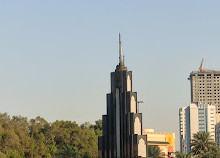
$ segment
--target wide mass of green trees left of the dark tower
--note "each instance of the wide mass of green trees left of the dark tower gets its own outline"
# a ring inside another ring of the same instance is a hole
[[[102,122],[95,125],[55,121],[48,123],[41,117],[0,114],[1,158],[77,158],[97,157],[98,136]]]

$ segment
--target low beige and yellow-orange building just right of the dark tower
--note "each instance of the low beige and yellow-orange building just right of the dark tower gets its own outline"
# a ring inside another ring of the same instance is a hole
[[[143,135],[147,135],[147,145],[160,148],[162,157],[171,158],[175,153],[175,133],[154,132],[154,129],[144,129]]]

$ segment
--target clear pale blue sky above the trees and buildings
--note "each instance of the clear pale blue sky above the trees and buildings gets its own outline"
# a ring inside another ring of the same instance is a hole
[[[121,33],[143,128],[174,132],[191,71],[220,70],[220,1],[0,1],[0,112],[94,123]]]

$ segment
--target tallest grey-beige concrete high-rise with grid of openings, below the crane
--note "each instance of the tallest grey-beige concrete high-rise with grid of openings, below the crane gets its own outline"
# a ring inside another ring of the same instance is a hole
[[[191,102],[216,106],[220,113],[220,71],[200,69],[189,76],[191,84]],[[217,122],[218,118],[217,118]]]

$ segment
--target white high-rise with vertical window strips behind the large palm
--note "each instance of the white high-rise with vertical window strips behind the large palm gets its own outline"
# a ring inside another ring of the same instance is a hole
[[[191,151],[191,140],[197,132],[209,132],[215,140],[216,108],[209,104],[191,103],[188,107],[179,109],[180,150]]]

